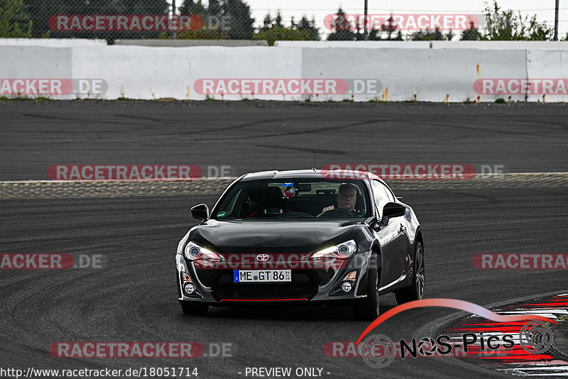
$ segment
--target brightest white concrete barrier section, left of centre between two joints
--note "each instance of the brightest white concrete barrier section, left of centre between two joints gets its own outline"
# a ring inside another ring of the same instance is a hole
[[[75,77],[104,79],[109,84],[105,99],[204,100],[206,94],[195,92],[195,81],[198,79],[302,77],[300,48],[108,46],[75,48],[73,51],[73,74]],[[217,95],[214,98],[222,97]],[[244,98],[252,97],[248,94],[223,96],[225,100]],[[255,98],[290,100],[270,95]]]

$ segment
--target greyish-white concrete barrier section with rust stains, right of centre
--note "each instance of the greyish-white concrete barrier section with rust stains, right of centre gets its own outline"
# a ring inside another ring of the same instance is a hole
[[[304,49],[302,73],[304,77],[349,75],[380,80],[381,92],[356,94],[356,101],[476,101],[477,79],[484,75],[525,78],[525,62],[524,50]],[[498,97],[503,96],[482,95],[480,100]]]

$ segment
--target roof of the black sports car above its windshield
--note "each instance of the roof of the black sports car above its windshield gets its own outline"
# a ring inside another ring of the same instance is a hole
[[[288,180],[290,178],[302,179],[327,179],[327,180],[369,180],[376,179],[381,182],[383,180],[373,172],[356,171],[356,170],[271,170],[251,172],[241,177],[241,181],[249,182],[251,180]]]

